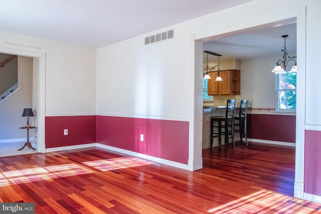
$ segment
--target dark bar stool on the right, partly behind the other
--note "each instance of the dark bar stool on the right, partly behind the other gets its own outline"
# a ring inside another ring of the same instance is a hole
[[[234,122],[234,132],[240,133],[241,146],[243,146],[242,135],[245,137],[246,145],[248,145],[247,134],[246,134],[246,117],[247,117],[246,115],[247,115],[248,102],[249,102],[248,100],[241,100],[239,114],[236,114],[234,116],[234,120],[237,121],[237,122]]]

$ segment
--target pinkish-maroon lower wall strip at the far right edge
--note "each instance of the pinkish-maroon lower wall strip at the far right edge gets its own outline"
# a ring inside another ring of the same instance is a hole
[[[304,192],[321,195],[321,131],[305,130]]]

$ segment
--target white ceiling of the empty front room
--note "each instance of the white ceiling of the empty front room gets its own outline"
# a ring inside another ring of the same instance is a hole
[[[101,48],[253,0],[0,0],[0,31]]]

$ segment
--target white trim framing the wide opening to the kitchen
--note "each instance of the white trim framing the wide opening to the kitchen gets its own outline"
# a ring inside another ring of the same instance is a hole
[[[195,52],[195,63],[194,66],[194,76],[195,76],[195,88],[194,88],[194,127],[191,127],[190,131],[193,130],[194,136],[193,140],[190,141],[190,150],[193,150],[193,154],[195,152],[202,152],[200,149],[196,148],[195,142],[200,142],[202,140],[202,136],[200,131],[196,132],[195,130],[197,127],[195,124],[199,124],[199,122],[202,120],[200,118],[201,112],[203,109],[200,107],[200,105],[197,103],[202,97],[202,93],[199,92],[199,88],[201,88],[202,81],[197,81],[199,74],[202,73],[202,67],[197,66],[200,64],[200,60],[203,59],[201,55],[203,55],[203,42],[208,42],[213,40],[214,38],[222,38],[227,36],[232,36],[236,34],[241,34],[242,32],[248,31],[248,30],[255,30],[257,28],[268,28],[273,27],[275,25],[286,25],[288,22],[293,22],[293,19],[296,19],[297,23],[297,64],[298,70],[297,70],[297,99],[296,99],[296,137],[295,137],[295,143],[296,143],[296,149],[295,149],[295,182],[294,182],[294,197],[303,198],[303,192],[304,192],[304,121],[305,121],[305,20],[306,20],[306,14],[305,14],[305,7],[291,10],[288,13],[278,14],[279,19],[278,20],[272,20],[269,23],[261,23],[261,25],[251,26],[246,29],[238,29],[232,32],[225,32],[218,35],[207,35],[204,36],[204,34],[195,35],[194,36],[194,49]],[[202,127],[202,126],[201,126]],[[202,129],[202,128],[201,128]],[[195,157],[199,157],[202,155],[195,155]],[[201,158],[202,159],[202,158]],[[196,162],[199,162],[199,160],[196,160]]]

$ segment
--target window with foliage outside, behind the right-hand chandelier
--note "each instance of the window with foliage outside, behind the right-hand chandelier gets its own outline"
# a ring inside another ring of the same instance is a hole
[[[295,112],[296,110],[296,72],[275,75],[275,111]]]

